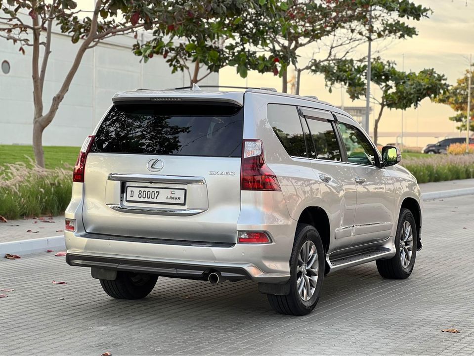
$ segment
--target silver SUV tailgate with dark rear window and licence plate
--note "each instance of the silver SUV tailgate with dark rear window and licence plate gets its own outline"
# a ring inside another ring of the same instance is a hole
[[[243,108],[217,101],[118,101],[85,171],[89,233],[235,242]]]

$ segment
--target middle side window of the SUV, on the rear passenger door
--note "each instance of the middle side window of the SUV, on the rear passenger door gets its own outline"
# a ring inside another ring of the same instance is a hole
[[[336,133],[333,126],[326,120],[306,119],[315,147],[315,158],[330,161],[341,161]]]

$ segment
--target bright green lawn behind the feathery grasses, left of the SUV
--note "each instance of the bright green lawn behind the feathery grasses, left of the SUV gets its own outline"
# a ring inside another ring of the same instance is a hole
[[[81,147],[44,146],[46,168],[62,168],[64,163],[74,166],[80,149]],[[29,163],[26,156],[34,160],[32,146],[0,145],[0,166],[6,163]]]

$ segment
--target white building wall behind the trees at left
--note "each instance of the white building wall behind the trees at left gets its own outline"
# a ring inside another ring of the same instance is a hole
[[[131,52],[135,40],[117,37],[86,51],[71,87],[53,122],[44,130],[44,145],[80,146],[92,132],[117,91],[136,88],[166,89],[189,85],[187,73],[171,74],[161,56],[148,63]],[[7,60],[10,72],[0,71],[0,144],[31,144],[33,132],[32,48],[0,39],[0,63]],[[68,72],[78,44],[69,37],[53,34],[51,55],[43,89],[44,112]],[[218,85],[218,74],[200,84]]]

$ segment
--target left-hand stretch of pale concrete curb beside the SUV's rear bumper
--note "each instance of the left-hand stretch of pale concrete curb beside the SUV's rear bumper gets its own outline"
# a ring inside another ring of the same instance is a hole
[[[0,257],[5,254],[27,255],[46,250],[64,250],[64,236],[43,237],[39,239],[20,240],[0,243]]]

